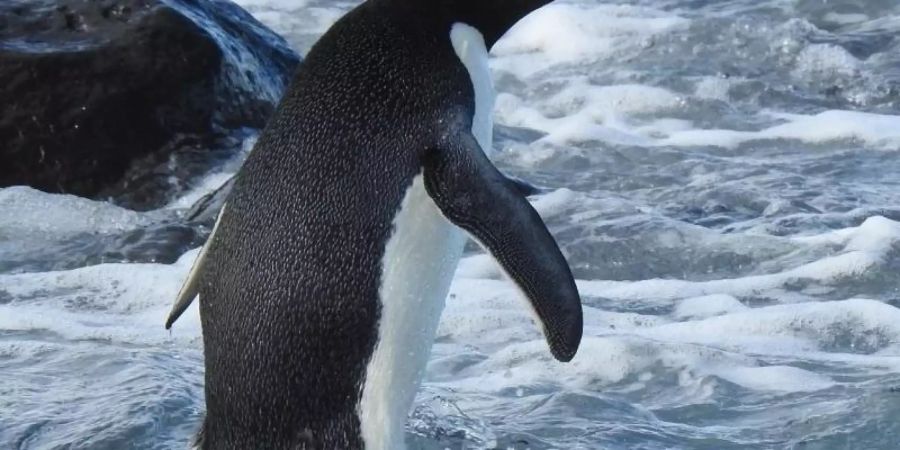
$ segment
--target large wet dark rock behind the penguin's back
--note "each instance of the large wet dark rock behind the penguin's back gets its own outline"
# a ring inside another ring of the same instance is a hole
[[[147,206],[142,167],[261,127],[298,62],[223,0],[0,1],[0,187]]]

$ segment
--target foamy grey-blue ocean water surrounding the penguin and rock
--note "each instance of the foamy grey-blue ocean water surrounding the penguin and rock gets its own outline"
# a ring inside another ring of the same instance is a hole
[[[239,0],[305,53],[355,2]],[[494,49],[498,165],[578,279],[550,356],[474,245],[411,449],[900,448],[900,3],[555,2]],[[0,448],[180,449],[203,412],[208,223],[0,190]]]

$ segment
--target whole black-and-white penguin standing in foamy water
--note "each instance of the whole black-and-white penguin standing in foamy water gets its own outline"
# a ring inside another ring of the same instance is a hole
[[[368,0],[312,47],[165,324],[200,299],[197,448],[404,449],[467,238],[573,358],[570,268],[489,158],[488,50],[546,3]]]

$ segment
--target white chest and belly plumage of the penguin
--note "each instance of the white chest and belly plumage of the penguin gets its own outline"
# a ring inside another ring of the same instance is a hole
[[[450,39],[475,91],[472,134],[490,156],[494,89],[484,38],[458,23]],[[378,341],[358,411],[366,450],[405,448],[406,418],[466,242],[428,196],[422,175],[407,190],[393,225],[382,258]]]

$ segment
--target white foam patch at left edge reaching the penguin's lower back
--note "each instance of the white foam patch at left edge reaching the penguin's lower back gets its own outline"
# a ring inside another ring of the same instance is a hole
[[[200,318],[192,306],[173,328],[166,315],[198,250],[174,264],[100,264],[68,271],[0,275],[0,330],[46,330],[68,340],[119,343],[193,342]]]

